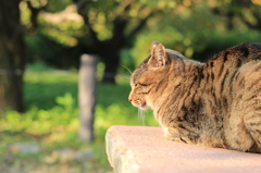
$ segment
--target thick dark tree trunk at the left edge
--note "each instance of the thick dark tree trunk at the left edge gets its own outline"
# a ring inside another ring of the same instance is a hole
[[[0,1],[0,111],[23,111],[25,51],[18,4]]]

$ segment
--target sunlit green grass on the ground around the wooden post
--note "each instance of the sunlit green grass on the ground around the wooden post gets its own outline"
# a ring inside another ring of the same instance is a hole
[[[64,163],[49,164],[45,157],[51,156],[58,148],[72,148],[75,150],[90,148],[95,155],[91,168],[96,170],[110,170],[107,160],[104,135],[111,125],[142,125],[138,119],[138,110],[128,101],[130,90],[128,81],[119,78],[117,85],[97,84],[97,106],[95,115],[95,143],[86,144],[77,138],[78,107],[77,83],[78,74],[59,71],[35,71],[24,76],[26,111],[20,114],[9,111],[0,119],[0,168],[11,164],[18,168],[21,164],[40,166],[63,166]],[[146,113],[145,125],[157,125],[151,112]],[[36,155],[10,153],[8,144],[35,143],[41,146],[41,152]],[[4,158],[11,156],[12,161]],[[35,158],[34,161],[32,158]],[[2,160],[1,160],[2,159]],[[28,163],[27,163],[28,162]],[[27,164],[26,164],[27,163]],[[85,172],[84,163],[70,161],[71,168],[76,172]],[[80,171],[82,170],[82,171]],[[83,171],[84,170],[84,171]],[[104,171],[105,172],[105,171]]]

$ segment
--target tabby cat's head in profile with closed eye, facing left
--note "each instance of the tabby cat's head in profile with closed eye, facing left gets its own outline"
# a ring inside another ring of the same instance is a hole
[[[153,109],[153,100],[159,97],[163,81],[167,78],[172,59],[160,42],[153,41],[150,55],[134,71],[130,77],[132,91],[128,100],[135,107]],[[159,87],[161,86],[161,87]]]

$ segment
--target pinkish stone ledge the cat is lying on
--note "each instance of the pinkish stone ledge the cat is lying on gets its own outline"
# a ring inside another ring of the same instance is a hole
[[[261,155],[170,141],[160,127],[111,126],[105,140],[115,173],[261,172]]]

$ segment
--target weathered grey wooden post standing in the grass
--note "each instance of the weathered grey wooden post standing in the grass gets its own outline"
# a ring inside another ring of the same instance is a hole
[[[96,55],[83,54],[80,57],[78,81],[78,136],[80,140],[88,143],[94,140],[94,121],[96,106]]]

